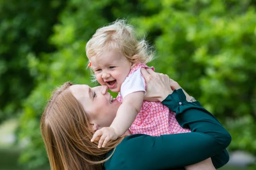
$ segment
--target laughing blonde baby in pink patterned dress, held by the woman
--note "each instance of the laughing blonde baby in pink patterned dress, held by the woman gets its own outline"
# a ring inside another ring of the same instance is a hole
[[[143,101],[146,83],[140,69],[149,68],[145,63],[152,60],[154,53],[145,40],[134,37],[133,28],[124,20],[98,29],[86,45],[86,54],[96,80],[119,92],[117,100],[122,103],[110,127],[94,134],[91,141],[101,136],[99,147],[128,129],[132,134],[151,136],[190,132],[161,102]]]

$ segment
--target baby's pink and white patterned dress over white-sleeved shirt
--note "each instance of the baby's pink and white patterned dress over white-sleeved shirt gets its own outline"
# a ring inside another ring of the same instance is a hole
[[[148,67],[143,63],[139,63],[132,68],[128,76],[139,68],[151,67]],[[153,67],[152,69],[154,70]],[[141,76],[143,77],[142,74]],[[123,102],[121,93],[118,94],[117,100],[121,103]],[[143,101],[141,110],[129,129],[132,134],[145,134],[150,136],[191,132],[189,129],[184,129],[179,125],[175,119],[175,113],[170,111],[168,107],[163,105],[161,102],[148,101]]]

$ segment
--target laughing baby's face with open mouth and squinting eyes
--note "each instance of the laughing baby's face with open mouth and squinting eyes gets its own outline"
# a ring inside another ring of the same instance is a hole
[[[101,85],[107,85],[113,92],[120,92],[121,85],[132,68],[131,62],[122,53],[115,51],[106,51],[89,59],[97,81]]]

